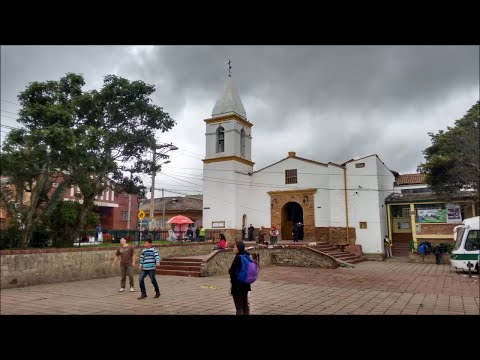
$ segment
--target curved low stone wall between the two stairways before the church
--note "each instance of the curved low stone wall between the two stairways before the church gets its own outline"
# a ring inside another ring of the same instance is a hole
[[[260,268],[267,266],[296,266],[335,269],[337,261],[330,255],[310,248],[257,248],[248,250],[250,254],[260,255]],[[232,250],[220,250],[212,254],[202,266],[201,276],[228,273],[235,254]]]

